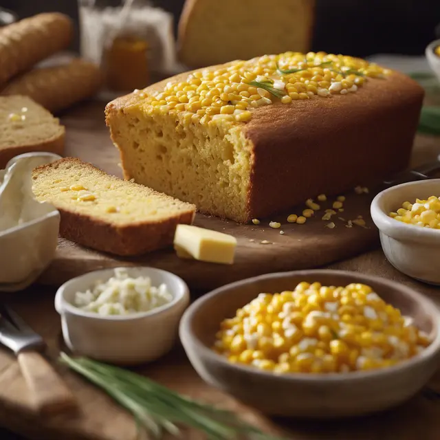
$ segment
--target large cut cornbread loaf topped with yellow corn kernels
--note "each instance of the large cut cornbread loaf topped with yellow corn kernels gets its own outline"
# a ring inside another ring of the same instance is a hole
[[[246,222],[404,168],[422,99],[359,58],[287,52],[180,74],[106,113],[126,179]]]

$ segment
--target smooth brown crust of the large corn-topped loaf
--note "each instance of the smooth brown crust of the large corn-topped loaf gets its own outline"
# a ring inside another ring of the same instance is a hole
[[[162,90],[168,81],[184,80],[188,74],[151,85],[143,93]],[[255,109],[252,120],[243,124],[254,144],[248,206],[235,220],[267,217],[322,192],[351,190],[405,168],[423,94],[415,81],[393,72],[386,79],[366,80],[353,94]],[[110,129],[113,118],[143,99],[129,94],[109,102]]]

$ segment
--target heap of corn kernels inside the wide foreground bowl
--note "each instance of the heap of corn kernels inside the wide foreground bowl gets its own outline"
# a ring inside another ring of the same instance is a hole
[[[293,292],[259,294],[223,320],[212,349],[277,374],[346,373],[393,366],[429,344],[368,285],[303,282]]]

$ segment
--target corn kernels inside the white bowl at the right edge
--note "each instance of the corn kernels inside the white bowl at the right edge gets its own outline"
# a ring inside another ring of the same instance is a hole
[[[440,229],[440,197],[432,195],[426,200],[416,199],[414,203],[404,201],[402,207],[389,216],[421,228]]]

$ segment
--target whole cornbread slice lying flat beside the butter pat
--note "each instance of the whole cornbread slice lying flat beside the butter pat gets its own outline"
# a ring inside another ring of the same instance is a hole
[[[192,223],[195,206],[124,181],[80,159],[66,157],[36,168],[37,200],[61,214],[60,235],[121,256],[144,254],[173,243],[179,223]]]

